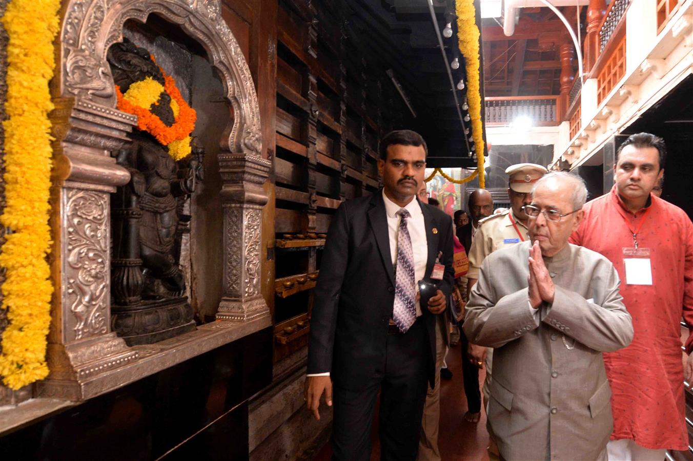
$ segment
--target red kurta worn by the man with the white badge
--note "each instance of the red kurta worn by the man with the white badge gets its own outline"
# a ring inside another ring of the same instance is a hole
[[[635,440],[648,449],[687,450],[679,322],[683,316],[693,325],[693,224],[681,208],[657,197],[633,215],[615,186],[584,210],[584,222],[570,242],[613,263],[635,330],[631,345],[604,354],[613,392],[611,439]],[[638,246],[650,250],[652,285],[626,284],[623,248],[633,247],[633,233],[624,217],[633,229],[642,222]],[[687,352],[692,341],[693,335],[686,341]]]

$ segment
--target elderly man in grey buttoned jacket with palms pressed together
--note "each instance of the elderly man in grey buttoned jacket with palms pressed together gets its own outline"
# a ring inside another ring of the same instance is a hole
[[[584,182],[534,187],[528,242],[484,260],[466,306],[469,341],[494,347],[489,422],[506,460],[606,460],[613,425],[602,352],[629,345],[631,316],[611,262],[568,236]]]

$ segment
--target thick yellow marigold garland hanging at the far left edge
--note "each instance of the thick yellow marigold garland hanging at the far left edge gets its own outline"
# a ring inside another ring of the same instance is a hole
[[[46,335],[53,286],[46,255],[51,245],[51,123],[49,81],[55,61],[60,0],[12,0],[2,18],[9,36],[9,120],[5,127],[7,206],[0,225],[10,228],[0,253],[7,278],[2,286],[8,325],[2,335],[0,375],[19,389],[48,375]]]

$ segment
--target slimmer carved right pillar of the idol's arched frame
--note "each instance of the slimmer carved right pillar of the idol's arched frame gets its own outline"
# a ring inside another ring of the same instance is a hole
[[[247,322],[270,316],[260,291],[263,183],[272,163],[260,156],[220,154],[224,209],[224,280],[217,320]]]

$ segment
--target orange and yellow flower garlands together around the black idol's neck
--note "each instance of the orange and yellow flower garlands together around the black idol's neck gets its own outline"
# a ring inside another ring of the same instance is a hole
[[[156,62],[154,56],[151,58]],[[190,134],[195,129],[197,113],[183,98],[173,77],[166,75],[161,67],[159,70],[164,75],[163,85],[149,76],[131,84],[125,94],[121,92],[121,87],[116,85],[118,109],[136,115],[137,127],[168,147],[168,154],[178,161],[191,152]],[[151,111],[152,105],[159,105],[159,99],[164,92],[170,96],[170,108],[175,119],[170,127]]]

